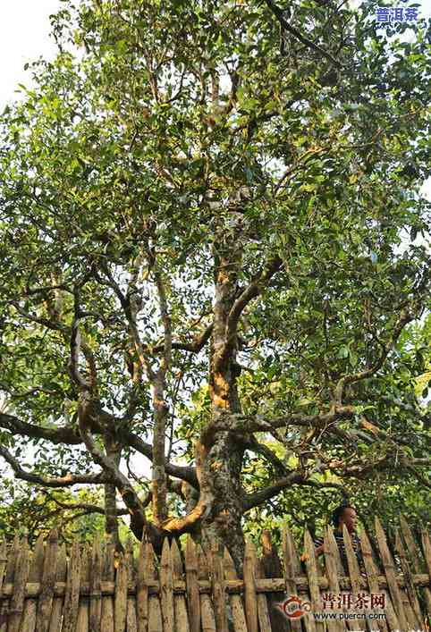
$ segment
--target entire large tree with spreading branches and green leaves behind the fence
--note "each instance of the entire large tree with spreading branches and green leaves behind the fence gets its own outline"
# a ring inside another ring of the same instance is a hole
[[[316,498],[425,515],[429,31],[375,7],[65,0],[1,118],[14,476],[238,566]]]

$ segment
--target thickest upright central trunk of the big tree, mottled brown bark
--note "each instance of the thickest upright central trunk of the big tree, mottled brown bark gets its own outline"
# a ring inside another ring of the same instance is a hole
[[[238,291],[237,271],[241,263],[241,248],[235,236],[224,234],[218,241],[215,262],[216,300],[209,375],[215,433],[205,447],[216,501],[210,518],[202,525],[202,543],[208,545],[212,538],[223,543],[241,574],[245,548],[241,527],[244,442],[237,434],[216,430],[217,417],[241,412],[236,384],[236,333],[228,337],[228,318]]]

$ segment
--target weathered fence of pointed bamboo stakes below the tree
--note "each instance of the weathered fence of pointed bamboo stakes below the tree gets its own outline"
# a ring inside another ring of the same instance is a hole
[[[26,541],[16,537],[12,545],[0,546],[0,632],[426,631],[431,612],[427,532],[421,540],[415,541],[401,518],[392,552],[376,518],[378,556],[363,533],[361,572],[344,532],[349,577],[343,577],[330,528],[322,569],[309,533],[303,547],[308,557],[301,567],[292,534],[284,527],[280,556],[267,532],[260,559],[253,544],[247,544],[239,578],[226,550],[204,554],[191,538],[182,552],[176,542],[165,540],[157,560],[147,542],[134,556],[131,543],[117,554],[112,544],[99,541],[92,546],[75,542],[66,552],[55,531],[46,543],[40,537],[30,552]],[[377,610],[358,606],[358,600],[364,604],[373,594],[380,600]],[[341,606],[342,599],[353,602]],[[292,616],[304,609],[303,616]],[[315,618],[318,612],[333,611],[343,619]],[[368,618],[350,619],[352,611]]]

